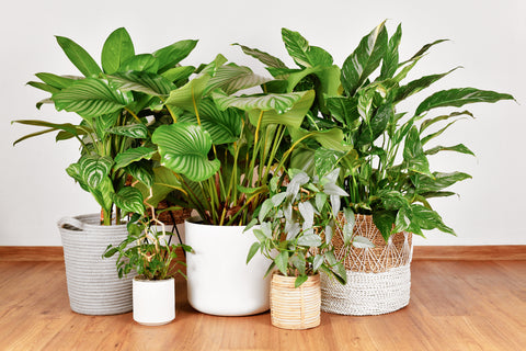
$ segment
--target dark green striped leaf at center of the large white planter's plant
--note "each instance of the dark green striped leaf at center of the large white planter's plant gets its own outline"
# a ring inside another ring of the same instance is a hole
[[[204,99],[198,106],[201,125],[211,136],[215,145],[233,143],[239,139],[243,123],[243,112],[237,109],[220,111],[211,99]],[[196,124],[195,116],[180,117],[181,122]]]

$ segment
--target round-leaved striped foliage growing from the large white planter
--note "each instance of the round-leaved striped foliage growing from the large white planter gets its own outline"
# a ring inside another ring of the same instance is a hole
[[[267,197],[272,173],[291,151],[282,150],[282,140],[302,123],[313,92],[233,95],[268,79],[226,63],[217,56],[170,93],[174,123],[157,128],[152,140],[178,179],[172,186],[204,223],[239,225]]]

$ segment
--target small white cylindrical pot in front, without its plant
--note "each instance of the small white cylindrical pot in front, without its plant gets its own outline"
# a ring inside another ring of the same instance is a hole
[[[161,326],[175,318],[175,280],[134,279],[134,320],[145,326]]]

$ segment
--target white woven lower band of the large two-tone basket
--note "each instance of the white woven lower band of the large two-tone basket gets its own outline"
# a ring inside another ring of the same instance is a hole
[[[347,284],[321,276],[321,310],[353,316],[382,315],[409,304],[410,264],[382,273],[347,271]]]

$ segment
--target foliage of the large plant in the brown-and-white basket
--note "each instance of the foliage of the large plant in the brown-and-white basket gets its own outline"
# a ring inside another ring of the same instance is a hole
[[[473,155],[464,144],[436,143],[448,127],[472,114],[464,109],[444,113],[442,107],[513,99],[494,91],[454,88],[422,99],[414,111],[397,111],[400,102],[456,69],[408,81],[408,73],[428,49],[445,41],[426,44],[401,60],[401,35],[400,25],[389,36],[381,23],[362,38],[341,69],[329,53],[286,29],[282,30],[283,42],[297,68],[283,67],[268,59],[268,54],[242,47],[268,65],[268,71],[283,81],[285,91],[316,91],[316,103],[301,133],[332,135],[333,139],[306,139],[295,165],[312,165],[318,172],[341,168],[339,184],[350,194],[345,206],[355,213],[371,214],[386,240],[402,230],[423,235],[422,230],[437,228],[454,234],[428,200],[455,194],[447,188],[471,177],[459,171],[432,171],[430,159],[443,151]]]

